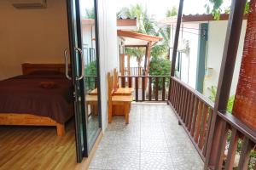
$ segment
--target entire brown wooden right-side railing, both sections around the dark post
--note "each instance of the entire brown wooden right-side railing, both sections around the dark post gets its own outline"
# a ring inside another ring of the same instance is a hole
[[[169,104],[176,113],[179,123],[183,125],[188,133],[202,160],[207,161],[207,150],[212,148],[212,145],[210,145],[212,144],[212,139],[209,138],[209,129],[212,128],[211,122],[214,105],[212,101],[176,77],[172,77],[171,83]],[[210,165],[207,168],[232,169],[237,166],[238,169],[250,169],[249,166],[253,166],[251,168],[255,169],[256,160],[251,156],[256,144],[255,131],[230,113],[218,112],[217,114],[222,120],[219,126],[224,126],[225,130],[221,132],[221,142],[216,146],[216,150],[218,150],[215,158],[216,164]],[[235,165],[235,157],[238,156],[237,152],[240,147],[238,143],[241,143],[241,150],[239,151],[238,165]]]

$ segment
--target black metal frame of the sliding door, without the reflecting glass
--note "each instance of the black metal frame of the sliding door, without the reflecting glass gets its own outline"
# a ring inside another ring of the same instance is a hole
[[[73,4],[75,3],[75,4]],[[99,130],[96,133],[96,139],[99,137],[99,134],[102,132],[102,104],[101,104],[101,77],[100,77],[100,47],[99,47],[99,31],[98,31],[98,2],[97,0],[94,0],[95,6],[95,34],[96,34],[96,71],[97,71],[97,88],[98,88],[98,122],[99,122]],[[77,77],[78,69],[79,69],[79,75],[82,73],[82,69],[80,68],[81,65],[77,64],[76,59],[73,59],[72,56],[74,56],[75,52],[73,52],[73,44],[77,43],[77,48],[83,48],[82,44],[82,27],[81,27],[81,15],[80,15],[80,6],[79,6],[79,0],[67,0],[67,26],[68,26],[68,37],[69,37],[69,51],[70,51],[70,61],[71,61],[71,67],[72,67],[72,76]],[[73,8],[74,7],[74,8]],[[75,11],[74,11],[75,9]],[[75,14],[74,14],[75,12]],[[76,20],[73,20],[73,16],[75,16]],[[74,23],[75,22],[75,23]],[[76,34],[73,31],[73,26],[76,25]],[[77,36],[77,37],[75,37]],[[74,37],[74,38],[70,38]],[[76,42],[77,41],[77,42]],[[81,58],[79,57],[79,64],[82,62]],[[75,68],[73,68],[73,65],[76,65]],[[78,67],[78,68],[77,68]],[[89,148],[88,144],[88,132],[87,132],[87,124],[88,119],[87,116],[85,116],[85,105],[80,105],[81,107],[78,108],[77,98],[78,96],[76,94],[79,93],[80,102],[81,104],[85,103],[85,96],[84,96],[84,78],[80,81],[73,78],[73,90],[74,90],[74,111],[75,111],[75,129],[76,129],[76,156],[77,156],[77,162],[81,162],[83,160],[83,157],[88,157],[90,154],[91,148]],[[79,84],[79,85],[78,85]],[[79,90],[77,90],[77,86],[79,86]],[[79,114],[78,114],[79,113]],[[82,131],[79,127],[79,119],[82,119]],[[81,139],[83,138],[83,140]],[[96,139],[93,140],[93,143],[96,143]],[[82,146],[82,141],[84,144],[84,150]],[[94,145],[92,144],[92,145]]]

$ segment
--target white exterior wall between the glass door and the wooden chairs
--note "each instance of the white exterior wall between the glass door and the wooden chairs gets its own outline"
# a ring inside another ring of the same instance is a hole
[[[108,126],[107,73],[118,68],[116,8],[114,0],[98,0],[100,71],[102,89],[102,128]]]

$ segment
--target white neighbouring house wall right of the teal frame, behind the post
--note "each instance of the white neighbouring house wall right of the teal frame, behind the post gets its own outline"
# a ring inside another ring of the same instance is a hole
[[[207,45],[207,67],[213,68],[212,77],[205,80],[204,92],[209,96],[210,91],[207,89],[211,86],[218,85],[218,75],[224,51],[224,40],[227,30],[228,21],[211,21],[209,22],[208,45]],[[243,50],[243,42],[246,32],[247,21],[242,23],[241,37],[236,57],[236,66],[234,71],[233,82],[231,85],[230,95],[236,94],[236,85],[241,65],[241,56]]]

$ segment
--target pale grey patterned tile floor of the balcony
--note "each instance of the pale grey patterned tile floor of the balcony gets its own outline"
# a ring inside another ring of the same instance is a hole
[[[130,124],[114,116],[108,124],[93,169],[203,169],[203,162],[166,104],[132,104]]]

